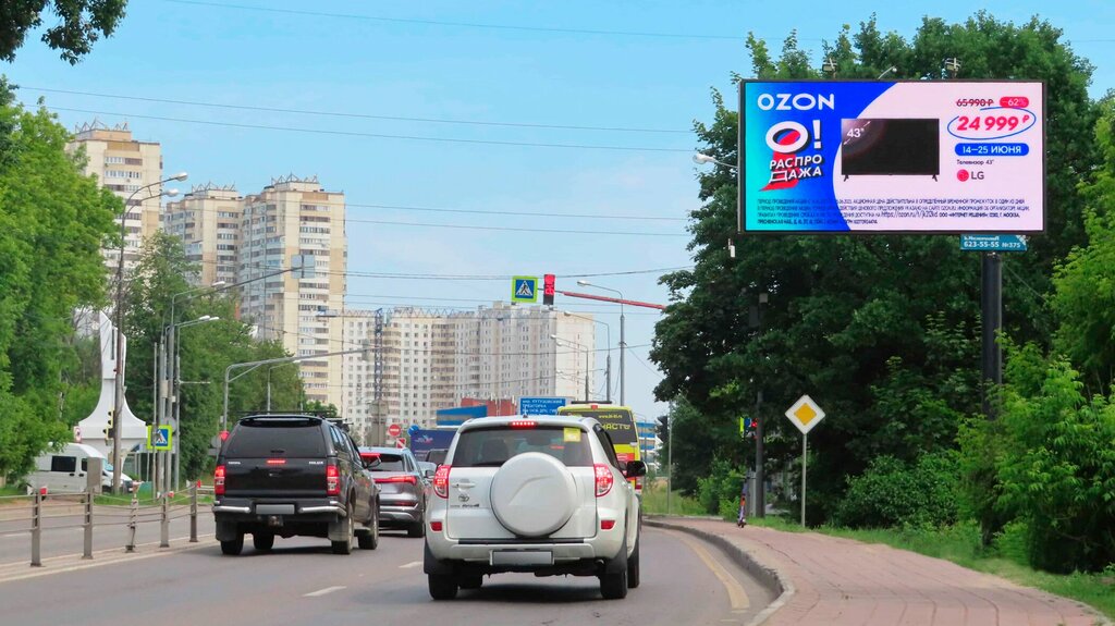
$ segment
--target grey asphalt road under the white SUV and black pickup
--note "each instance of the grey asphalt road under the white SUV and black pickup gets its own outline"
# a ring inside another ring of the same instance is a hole
[[[644,527],[642,585],[603,600],[595,578],[503,574],[434,601],[421,539],[384,532],[375,551],[332,555],[323,539],[278,539],[239,557],[212,540],[154,558],[0,584],[4,622],[21,626],[151,624],[746,624],[772,597],[717,548]]]

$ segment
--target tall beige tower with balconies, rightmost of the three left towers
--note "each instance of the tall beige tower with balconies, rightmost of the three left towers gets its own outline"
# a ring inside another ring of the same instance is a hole
[[[317,177],[273,179],[243,199],[236,253],[236,282],[251,281],[241,287],[242,316],[259,338],[310,356],[299,362],[307,399],[340,408],[343,359],[333,353],[349,349],[338,319],[348,266],[345,194],[326,190]]]

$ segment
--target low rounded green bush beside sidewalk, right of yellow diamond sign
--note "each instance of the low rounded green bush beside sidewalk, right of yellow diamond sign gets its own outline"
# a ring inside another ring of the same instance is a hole
[[[938,527],[957,521],[958,460],[953,452],[925,454],[914,466],[878,457],[847,480],[833,524],[851,528]]]

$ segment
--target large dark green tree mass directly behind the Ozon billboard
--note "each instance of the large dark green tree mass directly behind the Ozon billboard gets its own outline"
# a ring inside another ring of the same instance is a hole
[[[747,47],[757,78],[821,76],[794,35],[777,59],[754,37]],[[874,79],[893,66],[895,78],[940,79],[941,59],[962,57],[958,78],[1047,81],[1049,236],[1009,261],[1005,320],[1015,336],[1047,338],[1051,314],[1037,294],[1048,288],[1056,261],[1084,236],[1077,184],[1094,164],[1090,66],[1048,22],[1016,26],[982,12],[957,25],[927,18],[909,41],[883,35],[872,18],[855,33],[844,27],[824,48],[838,78]],[[716,92],[714,106],[712,123],[696,124],[702,151],[734,163],[738,116]],[[665,374],[656,394],[685,398],[701,420],[720,424],[746,412],[762,391],[770,462],[783,467],[799,438],[779,415],[809,393],[830,415],[809,436],[811,501],[817,505],[811,510],[825,519],[846,477],[871,459],[912,461],[949,448],[959,417],[978,411],[979,258],[960,252],[952,237],[792,235],[737,239],[738,256],[729,258],[733,174],[699,175],[704,205],[689,226],[695,267],[662,278],[671,304],[651,351]],[[769,294],[760,327],[749,323],[759,293]],[[680,447],[675,454],[679,464],[700,466]]]

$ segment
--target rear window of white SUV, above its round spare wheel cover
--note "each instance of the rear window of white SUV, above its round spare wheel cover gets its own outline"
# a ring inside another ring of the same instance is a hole
[[[589,433],[580,427],[479,428],[462,432],[453,453],[455,468],[500,467],[523,452],[542,452],[566,467],[591,467]]]

